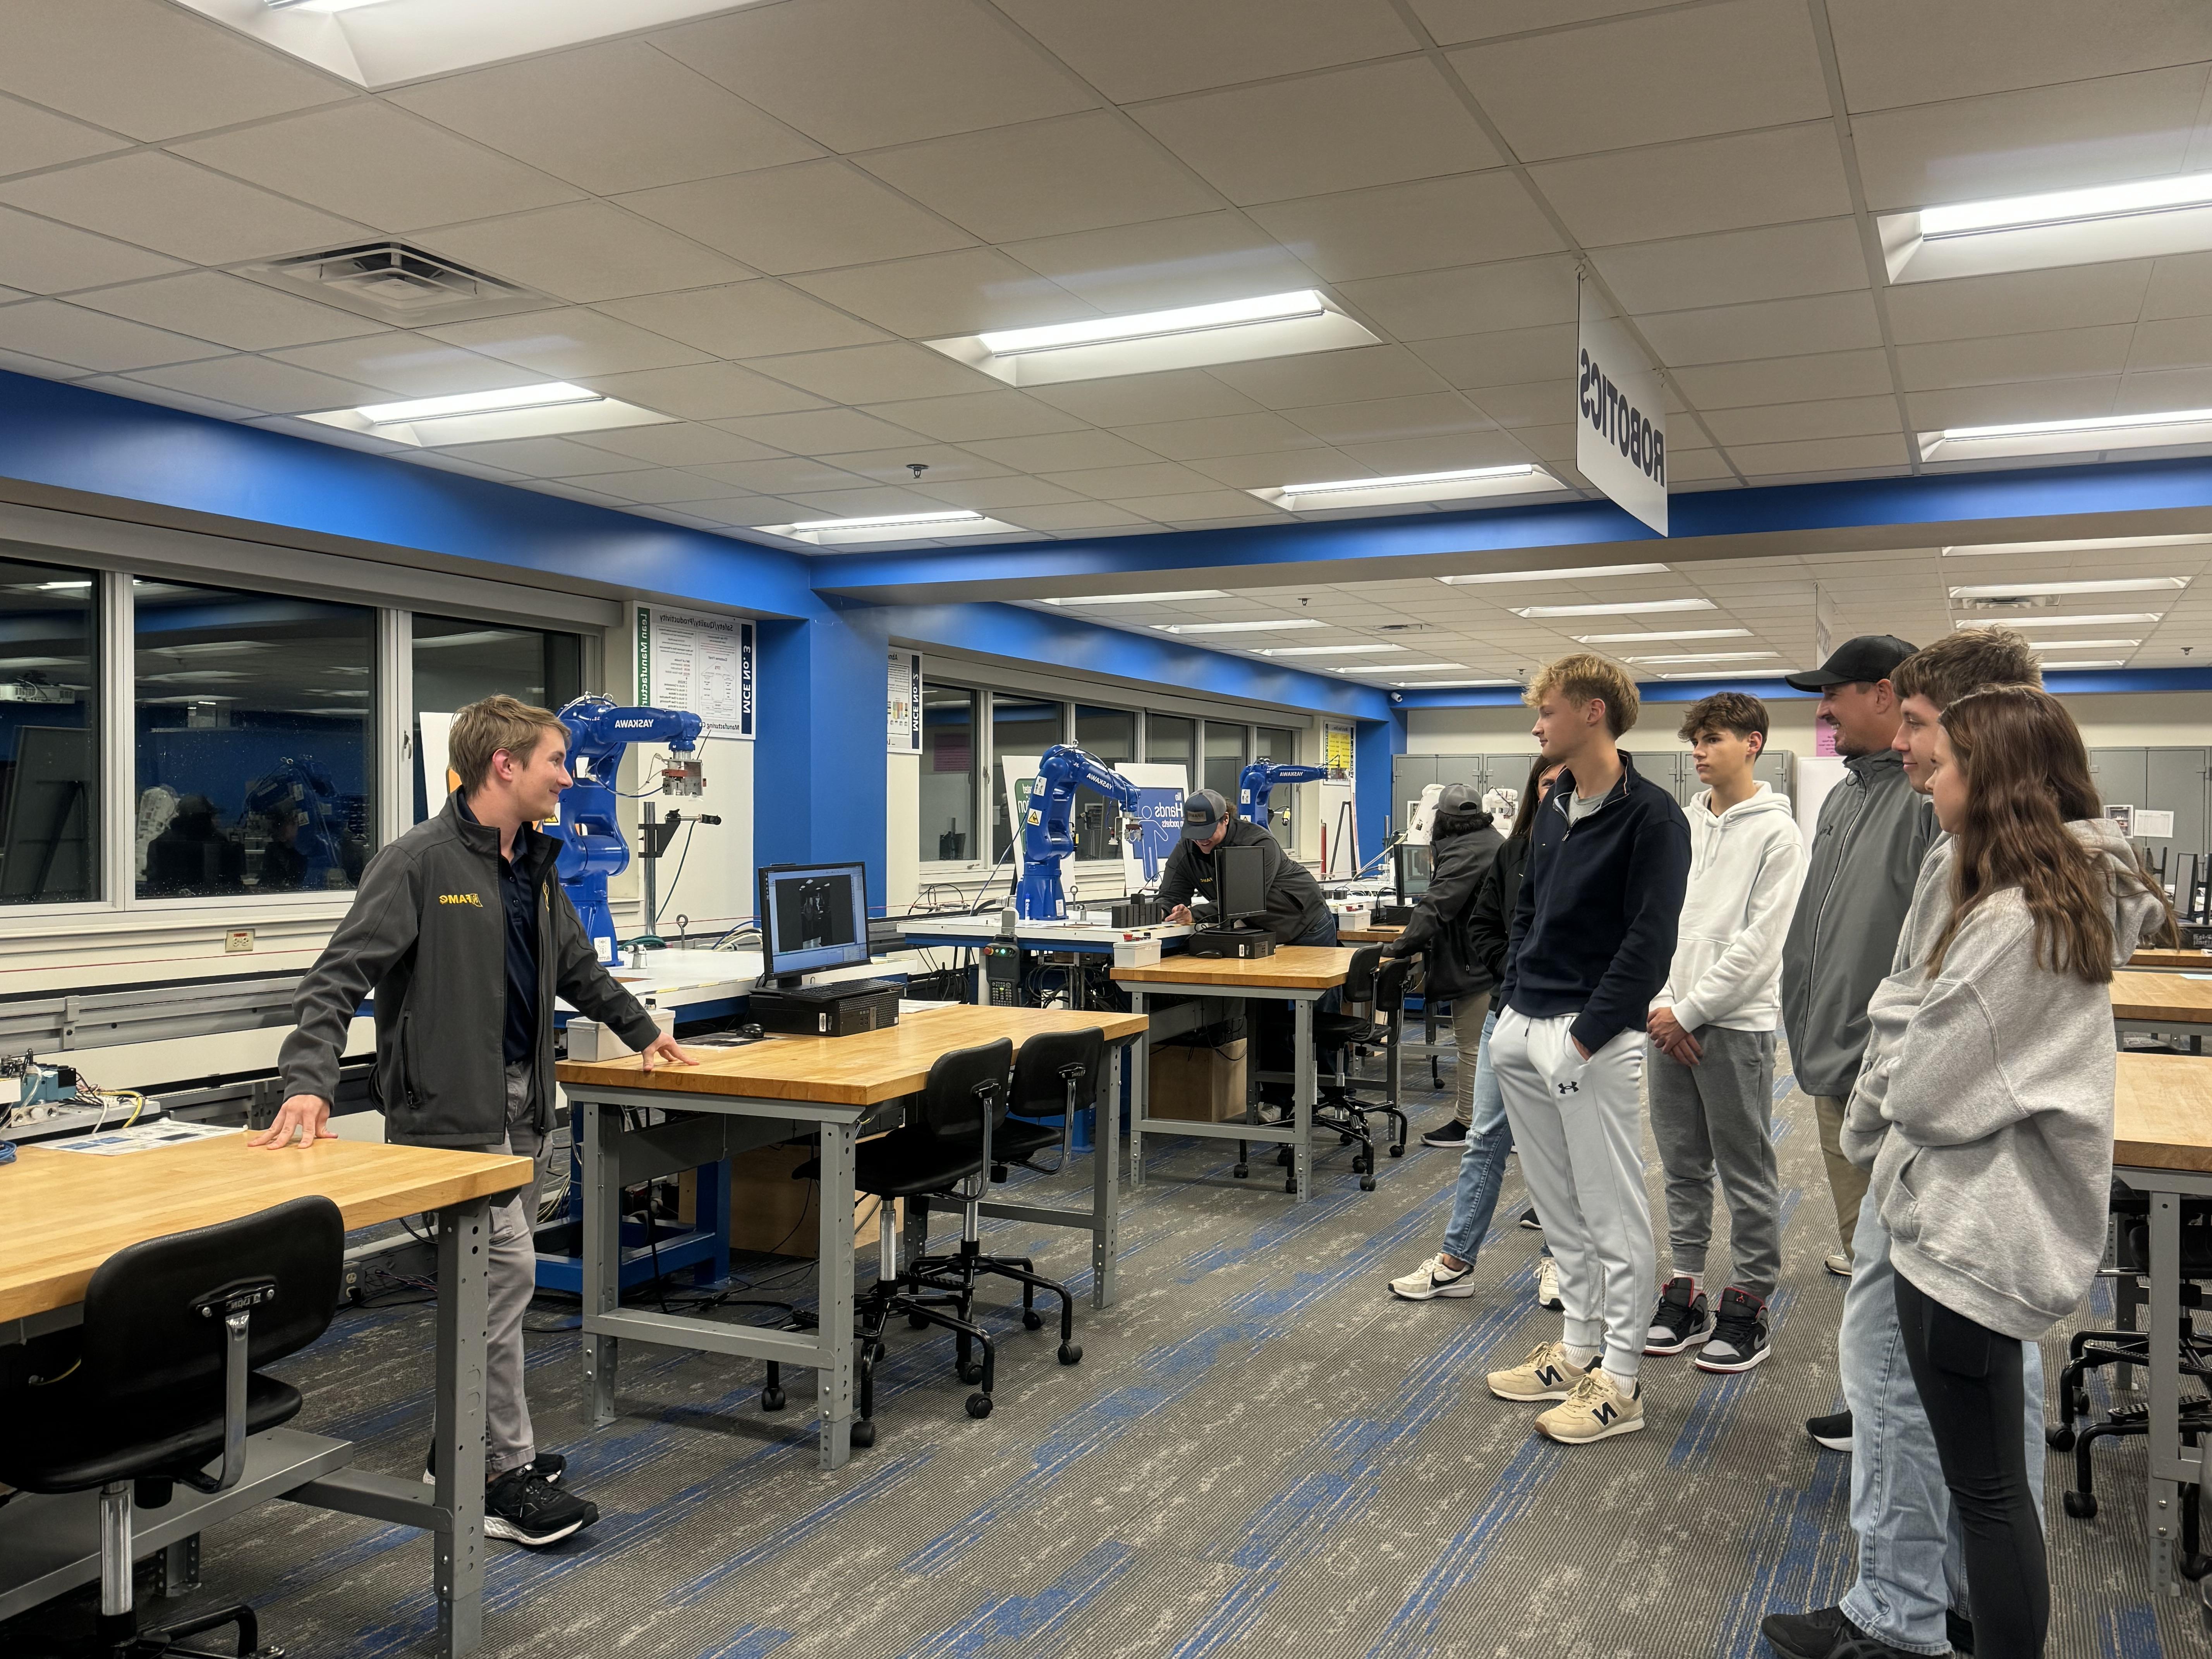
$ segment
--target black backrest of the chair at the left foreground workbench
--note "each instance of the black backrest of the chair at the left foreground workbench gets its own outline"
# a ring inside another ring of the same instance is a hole
[[[274,1287],[252,1310],[246,1352],[261,1367],[330,1327],[345,1292],[338,1206],[290,1199],[117,1250],[84,1292],[84,1387],[115,1413],[221,1418],[221,1303],[257,1285]]]

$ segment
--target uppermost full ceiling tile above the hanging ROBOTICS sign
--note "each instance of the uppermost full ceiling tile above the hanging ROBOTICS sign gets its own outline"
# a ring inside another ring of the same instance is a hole
[[[1812,18],[1794,0],[1559,29],[1451,53],[1524,161],[1827,115]]]

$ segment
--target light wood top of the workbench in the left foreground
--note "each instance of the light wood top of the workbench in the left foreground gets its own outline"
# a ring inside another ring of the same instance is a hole
[[[124,1245],[288,1199],[325,1197],[347,1228],[369,1228],[529,1179],[526,1157],[380,1141],[254,1150],[219,1135],[115,1157],[24,1146],[0,1166],[0,1318],[84,1301],[93,1270]]]

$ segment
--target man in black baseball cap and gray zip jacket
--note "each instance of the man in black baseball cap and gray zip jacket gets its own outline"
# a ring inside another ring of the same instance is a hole
[[[1820,692],[1818,717],[1836,726],[1836,752],[1845,757],[1843,783],[1820,803],[1805,887],[1783,942],[1783,1031],[1796,1086],[1812,1095],[1820,1119],[1843,1239],[1827,1267],[1843,1276],[1851,1272],[1867,1172],[1843,1155],[1836,1137],[1867,1053],[1867,1000],[1889,975],[1920,860],[1936,841],[1936,812],[1913,794],[1902,757],[1889,748],[1898,734],[1889,675],[1911,655],[1913,646],[1893,635],[1860,635],[1845,639],[1820,668],[1787,679]]]

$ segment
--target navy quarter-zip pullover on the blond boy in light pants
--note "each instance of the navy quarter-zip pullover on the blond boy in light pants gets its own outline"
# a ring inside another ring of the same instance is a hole
[[[1621,754],[1621,779],[1568,827],[1575,774],[1535,816],[1528,876],[1513,907],[1513,951],[1500,1004],[1551,1020],[1597,1053],[1641,1031],[1674,962],[1674,925],[1690,887],[1690,823],[1674,796]]]

